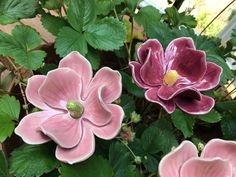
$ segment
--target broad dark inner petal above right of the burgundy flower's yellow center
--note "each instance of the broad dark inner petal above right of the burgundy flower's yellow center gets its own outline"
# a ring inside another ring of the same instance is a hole
[[[191,82],[200,81],[206,73],[206,54],[200,50],[185,49],[176,55],[171,70],[187,78]]]

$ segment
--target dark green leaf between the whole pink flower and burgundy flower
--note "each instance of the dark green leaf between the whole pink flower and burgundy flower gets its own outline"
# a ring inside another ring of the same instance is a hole
[[[144,90],[140,89],[134,81],[132,80],[132,77],[125,72],[120,72],[122,76],[122,86],[127,89],[127,91],[137,97],[144,97]]]

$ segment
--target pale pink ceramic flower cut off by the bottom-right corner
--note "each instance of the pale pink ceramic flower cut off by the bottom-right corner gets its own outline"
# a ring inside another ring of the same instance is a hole
[[[159,164],[160,177],[235,177],[236,142],[213,139],[198,157],[190,141],[167,154]]]

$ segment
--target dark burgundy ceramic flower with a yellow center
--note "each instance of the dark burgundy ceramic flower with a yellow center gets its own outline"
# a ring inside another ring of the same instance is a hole
[[[206,62],[203,51],[196,50],[191,38],[173,40],[165,50],[158,40],[151,39],[138,49],[139,62],[130,62],[133,79],[146,89],[145,98],[160,104],[168,113],[176,105],[189,114],[206,114],[214,100],[202,95],[216,87],[221,67]]]

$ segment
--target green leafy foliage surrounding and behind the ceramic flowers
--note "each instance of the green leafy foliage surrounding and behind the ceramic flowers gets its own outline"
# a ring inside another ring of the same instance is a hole
[[[151,6],[137,12],[138,4],[138,0],[0,1],[0,24],[17,23],[10,34],[0,31],[0,142],[4,146],[0,174],[3,177],[10,174],[151,177],[157,176],[160,159],[184,139],[197,146],[216,137],[236,140],[236,104],[230,97],[232,93],[226,93],[224,87],[235,77],[225,60],[228,56],[235,57],[236,30],[224,47],[215,37],[197,35],[194,31],[197,21],[188,12],[180,13],[169,7],[161,14]],[[24,19],[35,16],[54,36],[52,41],[43,41],[36,29],[22,24]],[[217,102],[207,115],[191,116],[180,110],[166,114],[160,106],[144,99],[144,91],[130,76],[128,62],[137,60],[136,50],[142,42],[156,38],[166,47],[171,40],[182,36],[192,37],[197,49],[206,52],[207,60],[224,69],[220,86],[205,93]],[[116,139],[97,138],[96,152],[91,158],[67,165],[55,159],[54,143],[26,145],[13,131],[24,115],[38,111],[25,98],[27,79],[56,68],[59,60],[73,50],[85,55],[94,70],[109,66],[120,71],[123,93],[116,104],[123,107],[125,118]],[[131,138],[125,138],[124,133],[129,133]]]

